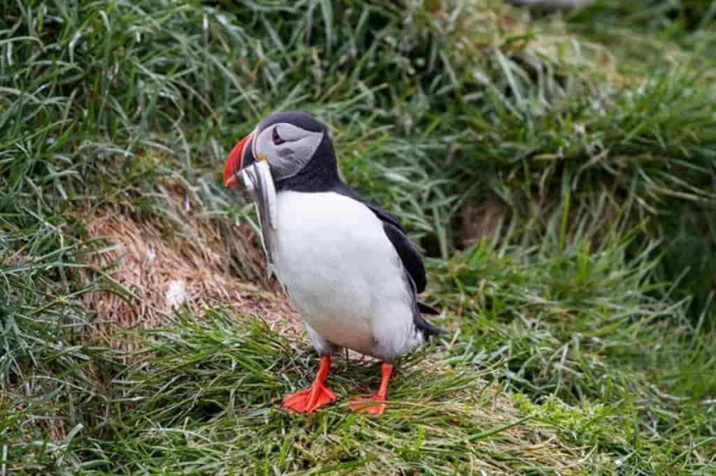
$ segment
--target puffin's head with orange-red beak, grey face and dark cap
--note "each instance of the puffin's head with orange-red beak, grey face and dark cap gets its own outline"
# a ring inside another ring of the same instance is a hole
[[[236,185],[236,173],[261,160],[268,162],[274,180],[292,177],[314,157],[324,135],[326,126],[306,112],[274,112],[233,147],[224,165],[224,185]]]

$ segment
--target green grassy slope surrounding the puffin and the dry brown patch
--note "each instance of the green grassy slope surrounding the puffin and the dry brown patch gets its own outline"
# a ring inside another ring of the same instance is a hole
[[[647,3],[2,4],[4,471],[715,472],[715,25],[693,21],[710,2]],[[262,279],[218,170],[289,107],[332,125],[344,175],[432,256],[455,332],[380,422],[276,409],[310,349],[221,301],[132,356],[84,331],[104,316],[83,296],[141,291],[90,264],[98,213],[196,244],[184,197],[228,271]],[[488,197],[500,223],[461,249],[463,205]]]

